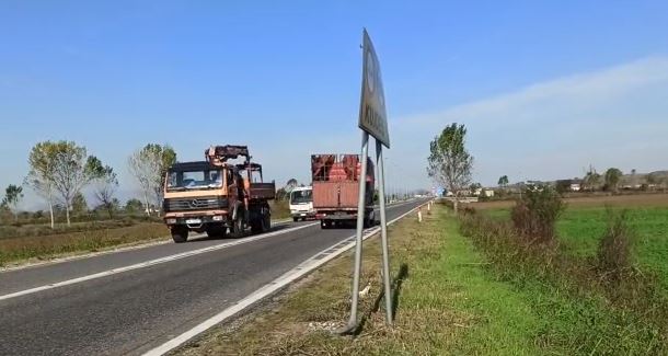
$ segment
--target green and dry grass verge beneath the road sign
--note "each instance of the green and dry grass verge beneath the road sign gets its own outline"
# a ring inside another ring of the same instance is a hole
[[[435,206],[390,228],[395,325],[384,325],[380,246],[365,244],[356,336],[347,320],[352,254],[335,259],[242,321],[221,325],[180,355],[599,355],[656,351],[656,329],[597,294],[574,296],[531,268],[507,269]],[[654,348],[653,348],[654,347]],[[664,348],[664,351],[666,351]]]

